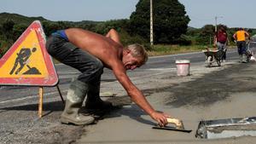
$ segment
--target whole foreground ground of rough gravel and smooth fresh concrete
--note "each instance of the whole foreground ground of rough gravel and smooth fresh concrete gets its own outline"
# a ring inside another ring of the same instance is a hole
[[[256,137],[195,138],[199,121],[255,116],[256,63],[225,62],[223,66],[190,66],[190,76],[177,77],[175,70],[132,79],[158,111],[183,120],[191,133],[154,130],[153,119],[131,102],[117,82],[102,85],[102,99],[121,106],[96,124],[61,124],[63,105],[58,96],[44,102],[44,117],[37,118],[38,99],[0,103],[0,143],[168,143],[253,144]],[[63,94],[66,95],[66,94]]]

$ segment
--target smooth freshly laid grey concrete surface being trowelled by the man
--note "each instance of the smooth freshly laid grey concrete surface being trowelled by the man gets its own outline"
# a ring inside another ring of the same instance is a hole
[[[255,143],[253,136],[195,138],[201,120],[255,116],[255,63],[227,62],[210,68],[191,66],[190,72],[188,77],[166,72],[135,84],[148,94],[147,99],[155,109],[182,119],[185,129],[193,130],[191,133],[154,130],[155,122],[131,103],[108,114],[98,124],[87,126],[76,143]]]

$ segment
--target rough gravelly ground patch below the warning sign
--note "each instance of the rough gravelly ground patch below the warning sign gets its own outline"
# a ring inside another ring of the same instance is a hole
[[[63,108],[61,102],[45,103],[43,118],[38,118],[36,107],[37,104],[1,107],[0,143],[69,144],[82,134],[84,130],[82,126],[59,122],[61,114],[59,110]]]

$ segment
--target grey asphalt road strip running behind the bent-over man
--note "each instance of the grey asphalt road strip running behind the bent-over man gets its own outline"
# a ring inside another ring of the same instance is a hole
[[[231,49],[227,55],[228,60],[236,60],[237,54],[235,49]],[[142,75],[154,75],[157,74],[157,70],[175,70],[176,64],[175,60],[190,60],[190,65],[202,65],[205,61],[205,55],[201,52],[182,54],[182,55],[166,55],[166,56],[156,56],[150,57],[146,65],[134,71],[128,71],[128,75],[131,79],[140,78]],[[59,76],[59,87],[62,92],[67,92],[68,86],[72,78],[77,78],[79,76],[79,71],[73,69],[70,66],[65,66],[63,64],[55,65],[55,70]],[[113,73],[105,69],[102,74],[102,84],[108,84],[109,82],[115,82]],[[53,95],[57,93],[56,88],[45,88],[44,95]],[[0,103],[8,101],[19,101],[19,99],[26,99],[37,97],[38,87],[27,87],[27,86],[2,86],[0,88]]]

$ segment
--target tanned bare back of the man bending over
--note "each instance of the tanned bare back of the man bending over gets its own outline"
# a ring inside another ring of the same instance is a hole
[[[108,68],[112,69],[113,61],[118,60],[121,64],[123,46],[120,43],[84,29],[70,28],[65,32],[71,43],[102,60]]]

